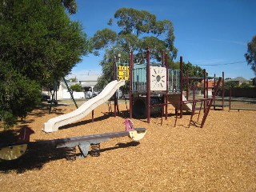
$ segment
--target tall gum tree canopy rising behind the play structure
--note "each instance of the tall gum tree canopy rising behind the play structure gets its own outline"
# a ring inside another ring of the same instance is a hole
[[[169,20],[158,21],[154,14],[146,10],[121,8],[108,22],[117,30],[98,30],[91,41],[94,45],[94,54],[105,49],[101,62],[102,78],[100,86],[110,82],[113,77],[113,59],[118,54],[127,61],[130,50],[134,50],[134,59],[145,62],[146,50],[150,48],[150,57],[156,61],[161,60],[161,52],[165,50],[171,59],[176,58],[177,49],[174,47],[174,27]]]

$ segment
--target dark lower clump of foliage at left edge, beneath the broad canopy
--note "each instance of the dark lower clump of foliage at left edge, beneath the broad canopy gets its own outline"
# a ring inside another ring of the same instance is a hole
[[[38,106],[41,87],[10,65],[0,64],[0,115],[8,127],[13,126],[17,118],[26,118],[27,113]]]

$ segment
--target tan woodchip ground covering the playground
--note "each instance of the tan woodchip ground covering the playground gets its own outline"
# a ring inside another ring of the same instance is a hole
[[[78,106],[82,104],[78,102]],[[48,114],[46,106],[34,110],[24,123],[34,130],[30,141],[124,130],[126,105],[120,102],[120,115],[109,113],[104,103],[82,121],[62,126],[47,134],[42,125],[50,118],[76,108],[66,101]],[[213,108],[213,107],[212,107]],[[134,127],[146,127],[139,142],[113,138],[101,143],[99,157],[88,155],[67,161],[59,150],[30,146],[21,158],[0,162],[0,182],[4,191],[255,191],[256,190],[256,112],[254,110],[210,110],[203,128],[197,114],[188,128],[190,114],[175,122],[169,117],[132,119]],[[200,117],[202,118],[202,117]],[[162,122],[162,125],[161,125]],[[2,130],[0,130],[2,132]]]

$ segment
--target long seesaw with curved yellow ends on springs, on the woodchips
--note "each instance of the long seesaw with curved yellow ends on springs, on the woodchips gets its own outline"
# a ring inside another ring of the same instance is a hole
[[[30,134],[34,134],[34,130],[30,128],[22,128],[18,141],[13,144],[1,145],[0,144],[0,159],[2,160],[14,160],[21,157],[26,153],[27,146],[30,143],[36,144],[51,144],[56,148],[65,148],[67,155],[71,160],[75,159],[75,148],[81,152],[81,157],[86,158],[89,150],[92,156],[99,156],[100,143],[110,140],[110,138],[121,138],[128,136],[134,141],[142,139],[146,134],[146,128],[134,128],[130,119],[126,119],[124,124],[126,125],[125,131],[106,133],[106,134],[92,134],[74,138],[58,138],[54,140],[46,140],[39,142],[30,142]]]

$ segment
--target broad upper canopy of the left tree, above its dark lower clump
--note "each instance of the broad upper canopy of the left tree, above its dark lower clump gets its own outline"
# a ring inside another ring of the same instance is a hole
[[[67,1],[63,1],[67,2]],[[10,0],[1,4],[0,58],[40,84],[70,73],[89,50],[86,34],[58,0]]]

